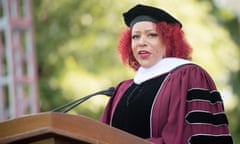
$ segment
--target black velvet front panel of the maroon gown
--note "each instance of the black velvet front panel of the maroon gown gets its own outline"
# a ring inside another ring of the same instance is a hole
[[[123,94],[112,119],[112,126],[141,138],[150,136],[150,115],[154,98],[167,74],[133,83]]]

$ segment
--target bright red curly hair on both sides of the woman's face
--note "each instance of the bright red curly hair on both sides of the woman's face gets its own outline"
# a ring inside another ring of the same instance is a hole
[[[180,25],[160,22],[157,23],[157,32],[161,35],[162,41],[166,45],[166,57],[192,59],[192,48],[184,39],[184,32]],[[140,67],[131,49],[131,28],[122,31],[118,42],[118,51],[124,64],[129,65],[134,70]]]

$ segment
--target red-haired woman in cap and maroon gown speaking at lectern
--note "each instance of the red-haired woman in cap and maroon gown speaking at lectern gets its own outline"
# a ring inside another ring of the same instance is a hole
[[[182,24],[167,12],[137,5],[119,52],[136,70],[111,97],[102,122],[156,144],[231,144],[223,102],[208,73],[191,60]]]

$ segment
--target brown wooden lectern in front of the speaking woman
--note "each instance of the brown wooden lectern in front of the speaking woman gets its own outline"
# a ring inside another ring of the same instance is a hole
[[[0,123],[0,144],[150,144],[144,139],[77,115],[48,112]]]

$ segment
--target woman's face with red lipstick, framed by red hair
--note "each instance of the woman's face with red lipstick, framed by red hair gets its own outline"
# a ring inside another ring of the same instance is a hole
[[[149,21],[138,22],[132,27],[133,55],[144,68],[153,66],[165,56],[165,45],[156,27]]]

